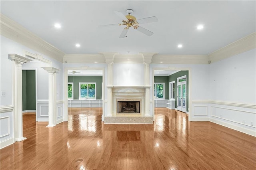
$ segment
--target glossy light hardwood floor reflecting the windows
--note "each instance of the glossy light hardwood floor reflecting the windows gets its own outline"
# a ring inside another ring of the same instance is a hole
[[[255,170],[256,138],[185,113],[155,109],[152,125],[104,125],[102,110],[69,109],[48,128],[23,116],[24,137],[0,150],[1,170]],[[81,162],[79,162],[82,159]]]

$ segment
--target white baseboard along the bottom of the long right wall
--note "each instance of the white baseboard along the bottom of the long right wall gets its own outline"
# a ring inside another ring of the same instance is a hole
[[[237,130],[239,132],[243,132],[243,133],[246,133],[246,134],[249,134],[249,135],[252,135],[252,136],[256,137],[256,130],[250,130],[250,129],[247,129],[247,128],[238,127],[237,125],[226,123],[224,121],[220,121],[220,120],[217,120],[217,119],[214,119],[214,118],[210,118],[210,122],[216,123],[218,125],[222,125],[224,127],[228,127],[228,128]]]

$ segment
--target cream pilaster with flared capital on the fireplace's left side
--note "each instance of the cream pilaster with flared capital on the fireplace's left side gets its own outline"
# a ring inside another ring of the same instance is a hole
[[[112,64],[114,63],[114,57],[118,53],[102,53],[105,57],[105,61],[108,64],[108,86],[112,86]],[[112,87],[108,87],[108,110],[106,116],[113,116],[112,109]]]

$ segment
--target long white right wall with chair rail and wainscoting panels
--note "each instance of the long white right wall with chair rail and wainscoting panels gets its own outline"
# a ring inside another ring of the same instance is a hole
[[[256,51],[210,64],[210,121],[256,136]]]

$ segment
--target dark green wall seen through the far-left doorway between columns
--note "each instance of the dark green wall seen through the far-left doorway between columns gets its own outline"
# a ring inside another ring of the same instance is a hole
[[[36,110],[36,71],[22,70],[22,111]]]

